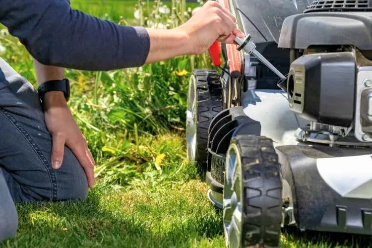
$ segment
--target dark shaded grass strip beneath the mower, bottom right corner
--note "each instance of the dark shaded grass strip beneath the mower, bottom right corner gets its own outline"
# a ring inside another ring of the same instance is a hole
[[[308,247],[317,247],[322,244],[325,244],[326,247],[372,247],[372,239],[369,235],[300,231],[296,227],[287,227],[283,233],[287,234],[288,241],[300,244],[307,243]]]

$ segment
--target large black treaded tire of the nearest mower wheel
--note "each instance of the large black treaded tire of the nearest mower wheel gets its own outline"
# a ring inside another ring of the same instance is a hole
[[[227,152],[226,168],[231,166],[232,162],[229,159],[234,156],[234,153],[236,153],[236,159],[241,162],[240,175],[243,175],[240,177],[243,189],[241,189],[242,231],[240,242],[237,240],[240,243],[238,246],[279,247],[282,222],[282,180],[278,155],[272,140],[255,135],[233,136]],[[236,167],[238,168],[239,165]],[[225,201],[228,201],[225,197],[229,199],[228,173],[226,169],[224,205]],[[234,179],[235,174],[236,172]],[[230,191],[235,191],[235,187],[234,184],[234,190]],[[228,210],[233,211],[232,207]],[[228,220],[225,218],[225,213],[229,216],[228,210],[225,210],[224,206],[224,223]],[[226,229],[225,227],[225,235],[228,235]],[[228,242],[229,237],[226,236],[226,238]],[[232,247],[231,243],[228,245]]]

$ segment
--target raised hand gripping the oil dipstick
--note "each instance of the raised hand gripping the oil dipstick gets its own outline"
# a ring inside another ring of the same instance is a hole
[[[200,54],[213,42],[234,44],[244,34],[236,26],[235,16],[216,1],[207,1],[192,17],[178,27],[189,37],[191,53]]]

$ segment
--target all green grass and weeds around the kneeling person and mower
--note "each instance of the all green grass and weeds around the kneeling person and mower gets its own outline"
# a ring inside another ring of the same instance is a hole
[[[178,25],[188,6],[197,5],[165,2],[177,12],[167,15],[156,14],[163,3],[141,2],[71,0],[92,15],[144,26]],[[0,45],[0,56],[36,85],[31,57],[18,40],[1,31]],[[66,69],[69,107],[96,160],[98,183],[85,201],[17,204],[18,234],[4,247],[224,247],[222,213],[209,203],[185,153],[189,72],[209,66],[201,55],[109,72]],[[281,247],[371,245],[363,236],[285,230],[281,237]]]

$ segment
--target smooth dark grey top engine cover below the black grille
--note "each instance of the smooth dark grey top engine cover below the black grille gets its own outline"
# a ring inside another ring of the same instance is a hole
[[[371,59],[372,12],[311,12],[291,15],[282,25],[278,47],[349,45]]]

